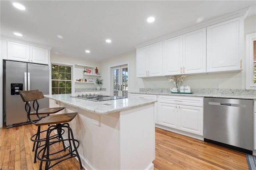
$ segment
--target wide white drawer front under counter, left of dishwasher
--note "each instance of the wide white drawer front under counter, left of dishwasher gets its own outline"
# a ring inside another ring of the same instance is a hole
[[[184,97],[184,96],[158,96],[158,102],[169,103],[169,104],[179,104],[186,106],[197,106],[203,107],[204,98],[201,97]]]

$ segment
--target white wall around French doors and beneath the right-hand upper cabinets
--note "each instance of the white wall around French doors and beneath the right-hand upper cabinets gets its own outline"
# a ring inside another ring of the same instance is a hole
[[[249,16],[244,20],[244,34],[256,31],[256,15]],[[135,49],[134,49],[135,50]],[[245,57],[243,60],[242,72],[218,73],[218,74],[202,74],[190,75],[184,80],[184,85],[191,88],[212,88],[213,83],[218,83],[222,89],[245,89]],[[139,88],[170,88],[174,84],[168,82],[168,77],[158,78],[136,78],[136,51],[126,53],[106,61],[100,62],[102,78],[104,78],[104,87],[110,89],[110,67],[122,64],[128,64],[129,87],[128,92],[138,92]],[[107,82],[107,83],[106,83]]]

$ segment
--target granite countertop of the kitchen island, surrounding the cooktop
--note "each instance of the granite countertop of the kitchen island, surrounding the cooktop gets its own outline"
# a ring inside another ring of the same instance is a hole
[[[138,98],[124,98],[94,102],[90,100],[71,98],[71,94],[49,94],[44,96],[46,98],[50,98],[58,102],[62,102],[64,104],[84,109],[86,111],[90,111],[99,115],[114,113],[126,109],[132,109],[134,107],[145,106],[157,102],[157,100]]]

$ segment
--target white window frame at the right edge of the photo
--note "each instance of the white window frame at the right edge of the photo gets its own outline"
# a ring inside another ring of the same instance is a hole
[[[253,41],[256,41],[256,32],[246,35],[246,89],[256,89],[253,78]]]

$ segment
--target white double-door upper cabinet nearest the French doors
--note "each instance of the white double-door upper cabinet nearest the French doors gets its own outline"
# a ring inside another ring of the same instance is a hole
[[[137,49],[137,77],[162,76],[162,42]]]

